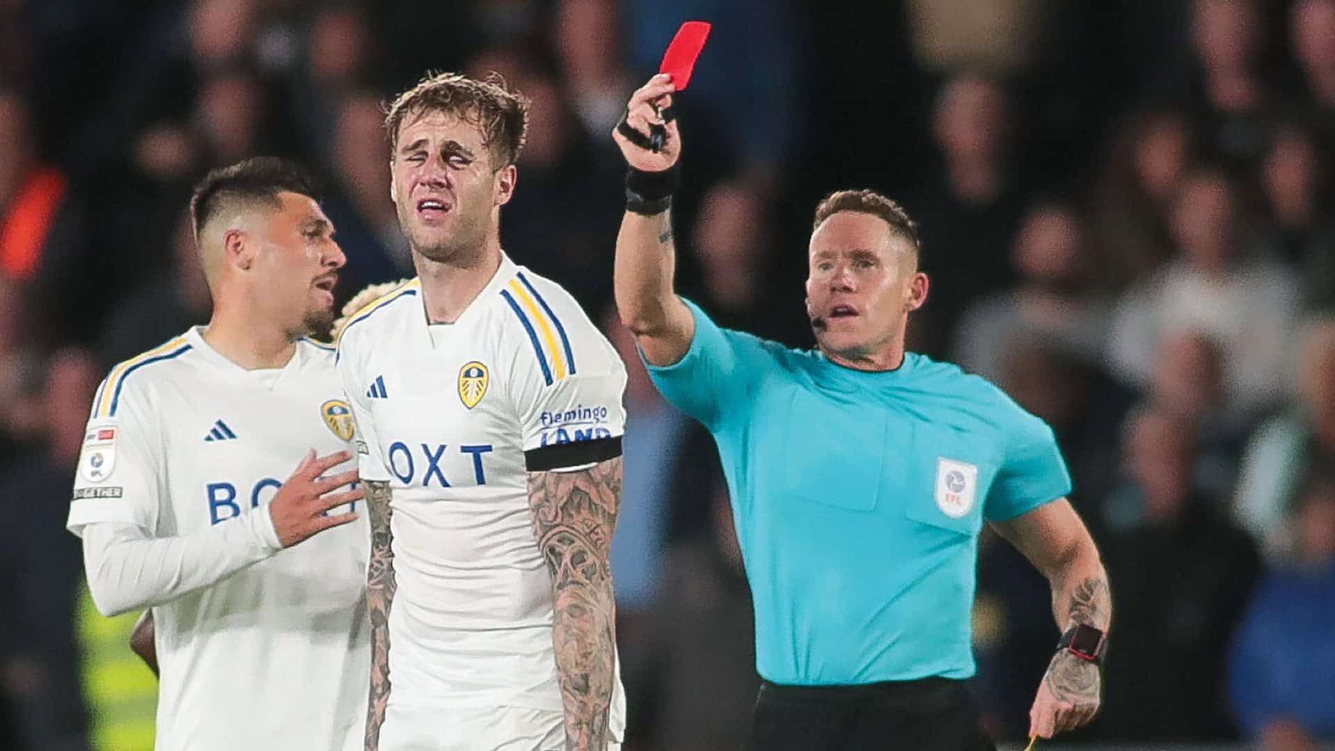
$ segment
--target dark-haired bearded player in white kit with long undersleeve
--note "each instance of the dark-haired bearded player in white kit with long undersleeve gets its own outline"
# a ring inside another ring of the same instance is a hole
[[[93,401],[68,527],[99,611],[152,608],[162,750],[362,743],[352,421],[332,350],[306,338],[344,258],[314,196],[278,159],[204,178],[212,319],[115,366]]]

